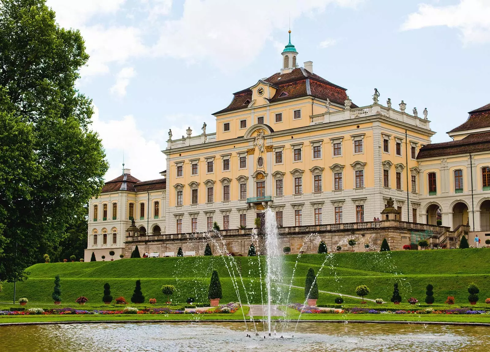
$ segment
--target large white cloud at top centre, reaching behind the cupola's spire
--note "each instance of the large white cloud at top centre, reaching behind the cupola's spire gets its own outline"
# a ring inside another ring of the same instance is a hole
[[[162,24],[156,55],[190,62],[210,61],[223,70],[236,67],[237,57],[259,55],[272,33],[288,28],[303,15],[317,15],[329,4],[354,7],[362,0],[186,0],[182,17]],[[283,42],[284,42],[283,40]],[[294,44],[294,30],[293,40]]]

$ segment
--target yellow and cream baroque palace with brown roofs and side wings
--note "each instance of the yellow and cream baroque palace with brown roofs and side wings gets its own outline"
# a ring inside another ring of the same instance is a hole
[[[400,249],[429,237],[455,246],[470,230],[490,231],[490,105],[450,131],[454,141],[430,144],[426,109],[418,117],[403,101],[382,105],[377,90],[358,107],[311,61],[299,67],[297,54],[290,34],[280,70],[234,93],[213,114],[216,132],[204,124],[201,134],[188,128],[172,139],[169,131],[163,179],[141,182],[124,169],[107,182],[90,203],[85,260],[111,249],[128,257],[136,245],[202,254],[200,233],[215,222],[227,249],[246,255],[266,207],[292,253],[315,232],[329,248],[347,249],[354,237]],[[139,230],[128,234],[132,219]]]

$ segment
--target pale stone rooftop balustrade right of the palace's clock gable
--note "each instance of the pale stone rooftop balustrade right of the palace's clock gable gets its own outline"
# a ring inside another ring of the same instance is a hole
[[[401,112],[392,108],[387,108],[386,106],[380,104],[373,104],[373,105],[363,106],[360,108],[353,108],[353,109],[332,110],[330,112],[325,112],[323,114],[312,115],[310,116],[310,125],[342,121],[342,120],[353,119],[353,118],[376,116],[376,115],[389,117],[397,121],[405,122],[417,127],[430,130],[429,120],[425,120],[420,117],[415,117],[413,115],[407,114],[406,112]]]

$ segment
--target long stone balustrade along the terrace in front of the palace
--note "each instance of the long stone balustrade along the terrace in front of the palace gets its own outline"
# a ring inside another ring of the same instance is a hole
[[[366,221],[366,222],[347,222],[341,224],[323,224],[323,225],[302,225],[302,226],[286,226],[277,229],[280,235],[287,234],[311,234],[311,233],[336,233],[350,232],[355,230],[383,229],[383,228],[399,228],[412,231],[431,231],[437,237],[449,231],[448,227],[418,224],[413,222],[398,221],[398,220],[383,220],[383,221]],[[223,237],[251,235],[253,229],[228,229],[220,230],[219,233]],[[167,235],[145,235],[126,237],[126,242],[152,242],[152,241],[172,241],[181,239],[203,238],[203,233],[186,233],[186,234],[167,234]]]

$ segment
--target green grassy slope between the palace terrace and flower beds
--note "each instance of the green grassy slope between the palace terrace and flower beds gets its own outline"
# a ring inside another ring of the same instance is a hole
[[[389,300],[394,282],[400,282],[400,293],[404,300],[410,296],[420,302],[425,298],[425,286],[434,285],[436,303],[443,303],[448,295],[454,295],[457,303],[467,304],[466,287],[475,282],[480,287],[480,303],[490,297],[490,249],[399,251],[389,253],[340,253],[333,256],[303,255],[297,264],[294,284],[304,285],[304,277],[309,267],[319,271],[319,289],[355,295],[355,287],[367,284],[371,289],[368,298]],[[285,256],[285,277],[290,278],[296,256]],[[158,302],[166,299],[160,292],[162,284],[174,284],[177,291],[173,302],[184,302],[189,296],[197,301],[207,299],[207,285],[213,269],[219,271],[223,286],[222,302],[236,301],[237,296],[227,268],[231,260],[244,277],[246,291],[251,303],[261,302],[259,286],[260,273],[264,273],[265,259],[235,257],[223,260],[220,257],[194,258],[140,258],[87,263],[36,264],[28,268],[29,279],[17,283],[17,298],[27,297],[31,303],[52,302],[50,295],[56,274],[61,277],[63,303],[72,304],[76,297],[84,295],[89,302],[100,302],[102,286],[111,285],[114,298],[124,296],[129,302],[134,282],[142,280],[146,299],[155,297]],[[226,264],[226,265],[225,265]],[[231,269],[230,269],[231,270]],[[471,275],[468,275],[471,274]],[[263,278],[264,279],[264,278]],[[287,279],[289,282],[289,279]],[[239,281],[242,302],[246,303],[242,283]],[[13,284],[5,283],[0,292],[0,302],[9,302],[13,296]],[[291,290],[292,302],[301,302],[301,289]],[[345,299],[346,303],[356,302]],[[319,305],[333,303],[333,296],[321,294]],[[29,304],[29,305],[30,305]]]

